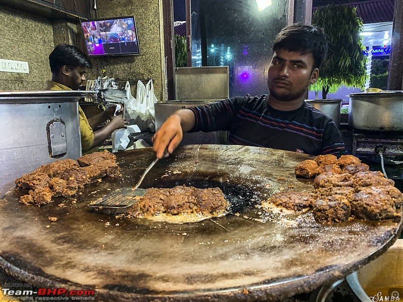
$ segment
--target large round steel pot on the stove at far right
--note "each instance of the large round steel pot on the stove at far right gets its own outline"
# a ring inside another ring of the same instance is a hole
[[[349,126],[361,130],[402,131],[403,92],[350,94]]]

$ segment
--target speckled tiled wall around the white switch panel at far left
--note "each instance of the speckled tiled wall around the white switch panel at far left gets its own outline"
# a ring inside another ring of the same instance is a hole
[[[0,72],[0,90],[42,90],[50,80],[52,22],[0,7],[0,59],[28,62],[29,73]]]

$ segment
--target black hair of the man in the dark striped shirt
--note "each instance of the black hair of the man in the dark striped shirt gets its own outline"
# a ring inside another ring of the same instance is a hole
[[[312,70],[319,68],[327,55],[328,39],[321,28],[312,25],[292,24],[281,30],[274,39],[273,51],[286,49],[301,53],[312,53]]]

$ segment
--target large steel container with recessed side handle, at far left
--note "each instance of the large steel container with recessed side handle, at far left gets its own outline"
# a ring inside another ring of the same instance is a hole
[[[56,160],[81,156],[82,91],[0,92],[0,196],[14,180]]]

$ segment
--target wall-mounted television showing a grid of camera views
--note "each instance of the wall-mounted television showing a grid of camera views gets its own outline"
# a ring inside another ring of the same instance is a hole
[[[133,16],[87,20],[81,28],[89,56],[140,54]]]

